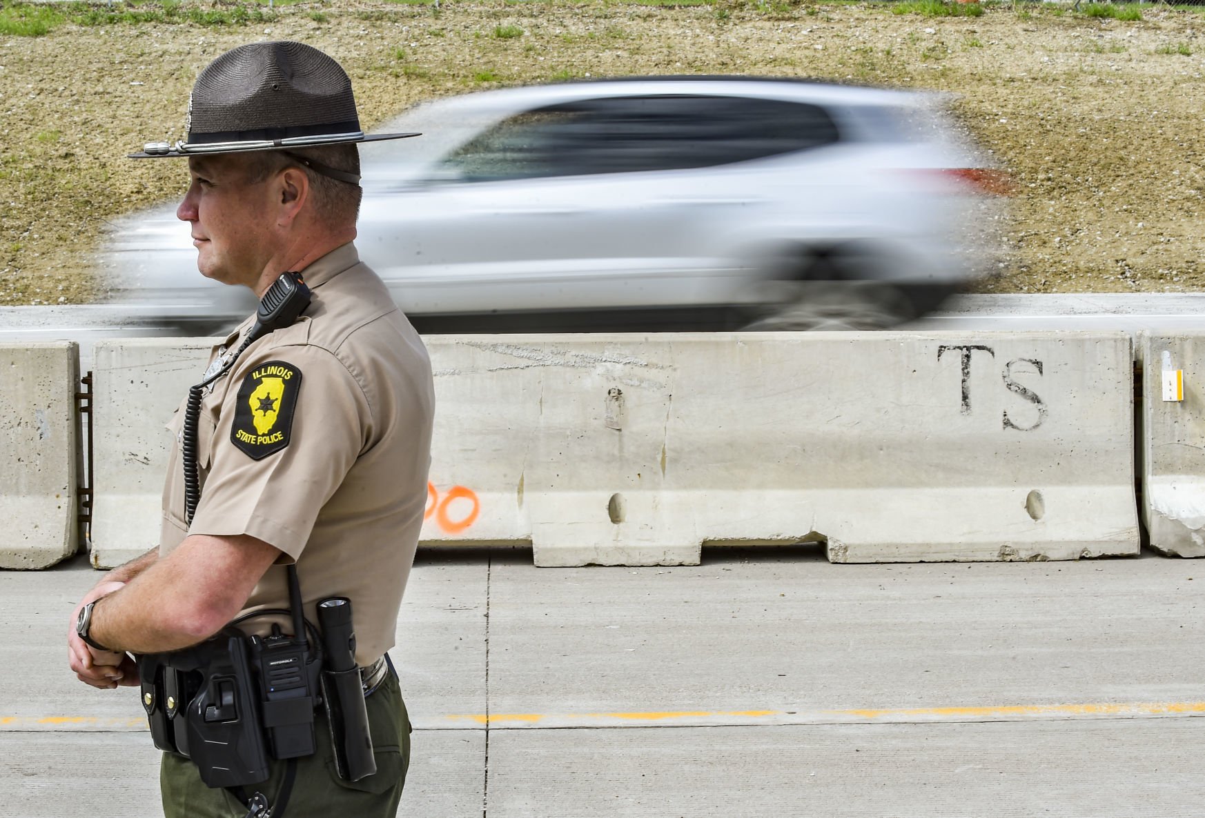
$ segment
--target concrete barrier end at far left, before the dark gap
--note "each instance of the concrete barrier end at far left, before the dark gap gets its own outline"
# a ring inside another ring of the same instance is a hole
[[[0,345],[0,569],[76,553],[78,351],[67,341]]]

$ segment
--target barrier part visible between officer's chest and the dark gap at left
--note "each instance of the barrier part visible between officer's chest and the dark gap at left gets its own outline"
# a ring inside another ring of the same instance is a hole
[[[159,545],[171,432],[219,339],[98,341],[93,364],[92,564],[113,567]]]

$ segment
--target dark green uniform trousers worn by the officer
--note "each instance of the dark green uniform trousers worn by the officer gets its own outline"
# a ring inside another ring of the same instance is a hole
[[[319,708],[313,724],[317,752],[296,759],[296,777],[284,812],[276,808],[276,799],[286,761],[274,760],[271,778],[243,789],[248,795],[255,790],[263,793],[272,806],[274,818],[394,818],[410,766],[410,718],[398,677],[389,672],[365,705],[377,763],[375,775],[357,782],[339,777],[327,716]],[[159,788],[166,818],[243,818],[247,814],[247,806],[230,793],[206,787],[196,765],[183,755],[163,754]]]

